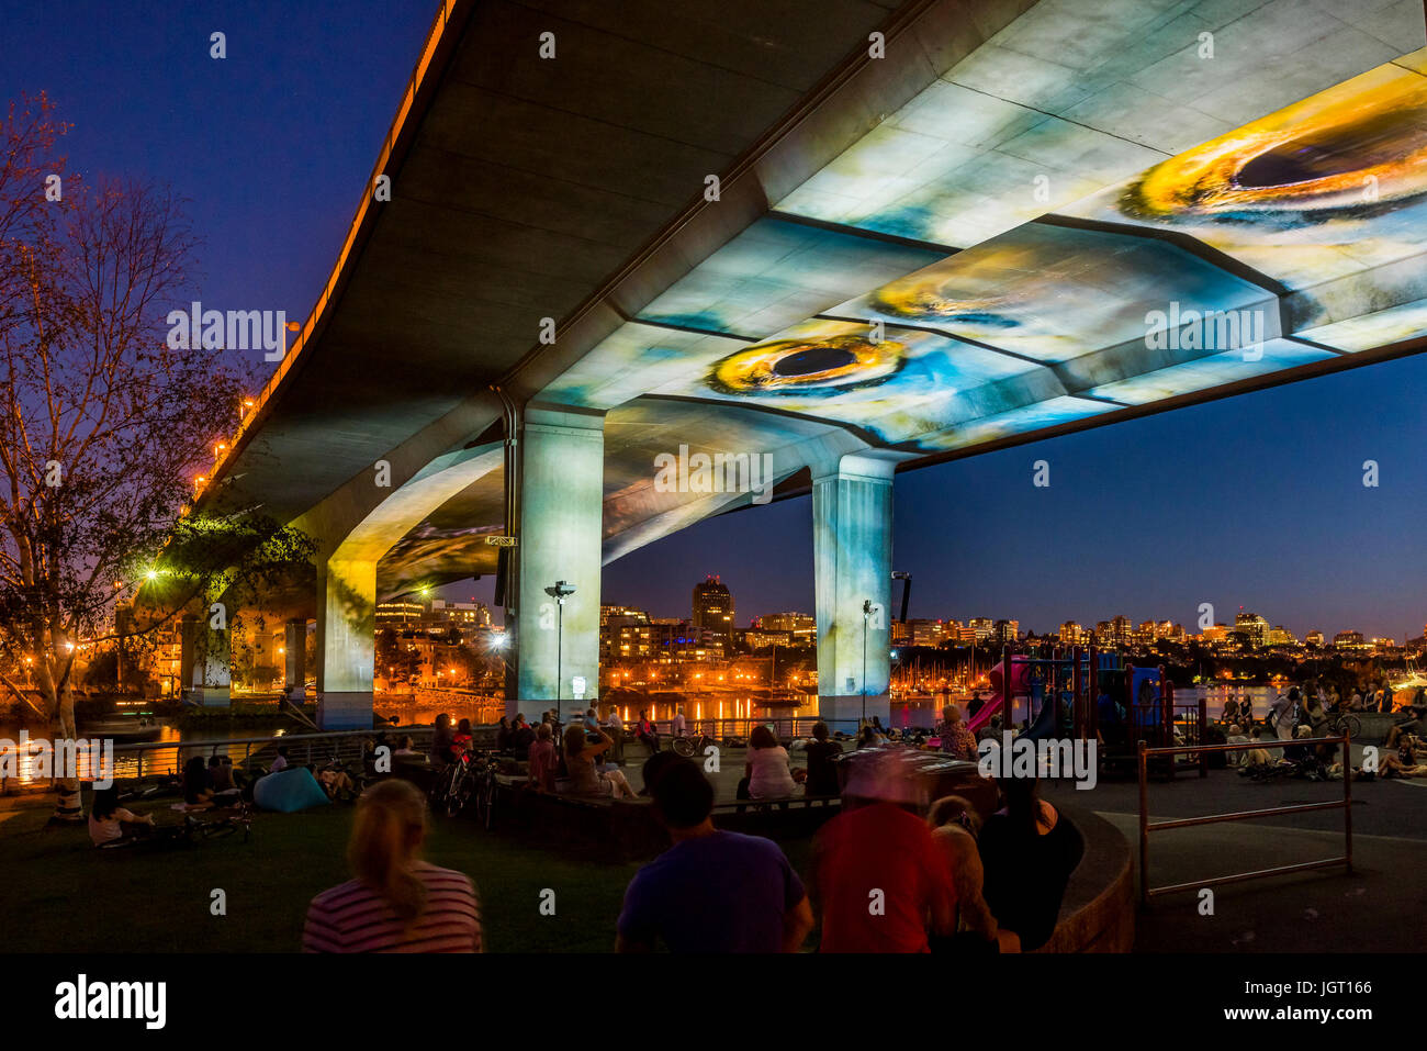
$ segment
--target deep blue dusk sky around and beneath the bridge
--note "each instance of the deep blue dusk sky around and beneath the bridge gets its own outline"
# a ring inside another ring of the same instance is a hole
[[[434,10],[10,1],[0,70],[6,99],[44,90],[74,124],[73,170],[190,200],[200,298],[305,318]],[[214,30],[224,61],[208,57]],[[1243,605],[1300,637],[1420,634],[1424,380],[1417,356],[900,476],[895,568],[915,577],[912,614],[1192,628],[1209,601],[1220,621]],[[1049,488],[1032,486],[1037,458]],[[1378,488],[1363,486],[1368,458]],[[716,518],[608,567],[604,594],[686,615],[718,573],[739,623],[811,613],[811,537],[808,498]],[[488,598],[489,581],[474,590]]]

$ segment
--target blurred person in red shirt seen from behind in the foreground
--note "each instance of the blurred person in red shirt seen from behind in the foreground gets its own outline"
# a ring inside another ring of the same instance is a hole
[[[956,932],[946,853],[908,804],[909,771],[895,751],[855,761],[842,813],[818,833],[808,894],[822,952],[929,952]]]

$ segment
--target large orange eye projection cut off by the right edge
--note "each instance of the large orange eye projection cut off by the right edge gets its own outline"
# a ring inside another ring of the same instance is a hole
[[[1427,83],[1324,91],[1156,164],[1120,197],[1146,220],[1284,227],[1391,211],[1427,196]]]

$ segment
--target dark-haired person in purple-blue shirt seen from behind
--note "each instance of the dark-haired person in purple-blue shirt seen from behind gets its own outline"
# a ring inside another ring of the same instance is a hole
[[[615,951],[796,952],[812,905],[778,844],[716,830],[714,785],[692,760],[662,760],[652,781],[674,845],[629,881]]]

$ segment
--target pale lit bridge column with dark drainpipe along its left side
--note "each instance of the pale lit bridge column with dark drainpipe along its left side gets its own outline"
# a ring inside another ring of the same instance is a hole
[[[527,407],[521,427],[515,695],[508,714],[539,723],[599,695],[599,573],[605,497],[604,414]],[[557,583],[574,588],[564,603]]]

